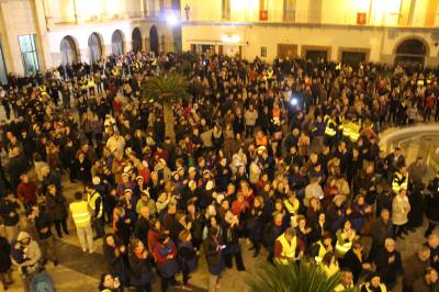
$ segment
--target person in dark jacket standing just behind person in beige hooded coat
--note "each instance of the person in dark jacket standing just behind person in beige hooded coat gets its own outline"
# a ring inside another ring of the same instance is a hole
[[[56,251],[55,238],[52,234],[52,218],[38,205],[32,206],[31,218],[35,222],[36,232],[40,237],[40,248],[42,250],[43,261],[52,260],[54,266],[58,265],[58,256]]]

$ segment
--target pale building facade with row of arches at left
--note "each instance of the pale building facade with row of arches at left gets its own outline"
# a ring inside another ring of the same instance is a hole
[[[0,0],[0,81],[137,50],[172,50],[171,0]]]

